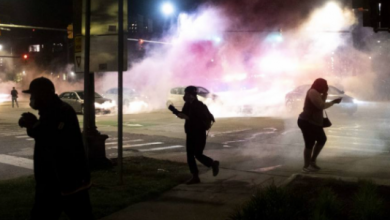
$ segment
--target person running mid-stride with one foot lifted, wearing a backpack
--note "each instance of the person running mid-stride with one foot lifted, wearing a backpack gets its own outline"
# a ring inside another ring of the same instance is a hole
[[[183,97],[185,101],[183,110],[180,112],[172,105],[169,107],[179,118],[185,119],[187,163],[192,174],[192,178],[187,181],[187,184],[200,183],[199,170],[195,158],[206,167],[211,167],[213,176],[217,176],[219,172],[219,162],[203,154],[206,147],[206,131],[210,129],[212,122],[215,120],[207,106],[198,100],[197,93],[197,87],[188,86]]]

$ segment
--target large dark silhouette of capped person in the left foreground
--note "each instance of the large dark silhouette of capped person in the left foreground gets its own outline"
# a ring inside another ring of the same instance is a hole
[[[23,92],[31,95],[30,106],[40,116],[23,113],[19,120],[35,139],[31,219],[58,219],[62,212],[70,219],[93,219],[90,174],[76,112],[58,98],[47,78],[34,79]]]

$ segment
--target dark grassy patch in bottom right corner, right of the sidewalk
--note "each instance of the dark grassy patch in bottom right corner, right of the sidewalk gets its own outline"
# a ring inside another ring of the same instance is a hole
[[[270,185],[232,213],[230,220],[390,219],[390,187],[371,181],[299,177],[285,187]]]

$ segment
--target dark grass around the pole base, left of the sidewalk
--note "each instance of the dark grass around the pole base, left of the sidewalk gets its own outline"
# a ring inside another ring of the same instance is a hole
[[[120,186],[118,167],[92,172],[90,190],[96,219],[127,206],[157,197],[188,178],[186,164],[132,157],[124,160],[124,185]],[[28,219],[34,198],[34,177],[0,181],[1,219]],[[67,219],[62,216],[61,219]]]

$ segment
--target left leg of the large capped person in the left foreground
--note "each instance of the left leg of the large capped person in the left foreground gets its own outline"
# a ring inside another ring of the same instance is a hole
[[[50,190],[36,190],[30,220],[59,219],[62,212],[60,196]]]

